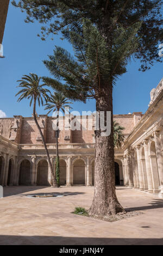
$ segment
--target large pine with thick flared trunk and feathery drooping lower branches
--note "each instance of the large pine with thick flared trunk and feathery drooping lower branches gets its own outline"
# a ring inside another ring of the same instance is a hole
[[[106,112],[111,112],[111,135],[103,136],[102,127],[95,131],[96,189],[90,209],[91,215],[106,216],[123,211],[115,193],[112,84],[118,76],[126,72],[130,56],[139,46],[137,31],[140,26],[139,22],[127,30],[117,29],[114,47],[110,50],[97,28],[86,20],[82,27],[64,32],[65,38],[73,46],[75,58],[65,49],[56,46],[54,55],[44,61],[55,77],[43,78],[48,86],[59,90],[72,100],[85,102],[86,99],[95,99],[99,118],[100,112],[105,112],[105,125],[110,122],[106,118]]]

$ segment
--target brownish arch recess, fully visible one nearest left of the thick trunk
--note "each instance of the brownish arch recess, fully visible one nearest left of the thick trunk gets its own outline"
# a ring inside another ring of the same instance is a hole
[[[76,158],[72,161],[73,166],[73,184],[85,185],[85,166],[86,162],[83,157]]]

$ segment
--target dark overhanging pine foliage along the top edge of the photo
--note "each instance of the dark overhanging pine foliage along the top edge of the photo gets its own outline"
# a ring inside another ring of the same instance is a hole
[[[42,40],[80,26],[86,18],[96,25],[109,47],[117,29],[126,30],[142,22],[137,31],[140,47],[134,53],[140,59],[140,70],[149,69],[155,61],[161,62],[158,44],[163,39],[162,0],[14,0],[12,4],[26,11],[26,22],[41,23]]]

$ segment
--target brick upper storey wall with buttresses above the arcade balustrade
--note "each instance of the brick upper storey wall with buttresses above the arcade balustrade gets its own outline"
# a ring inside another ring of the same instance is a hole
[[[114,120],[125,128],[123,133],[127,137],[141,117],[142,114],[137,112],[127,115],[114,115]],[[47,117],[47,115],[37,117],[46,143],[56,143],[56,132],[53,129],[55,120],[55,118]],[[76,120],[80,130],[71,131],[65,128],[67,124],[65,118],[60,119],[59,143],[95,143],[95,117],[93,115],[79,116]],[[75,123],[74,117],[71,117],[71,121]],[[0,135],[19,144],[42,143],[33,117],[23,118],[20,115],[15,115],[14,118],[1,118]]]

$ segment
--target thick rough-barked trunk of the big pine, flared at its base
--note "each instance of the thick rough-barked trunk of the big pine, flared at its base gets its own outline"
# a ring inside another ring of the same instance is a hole
[[[95,131],[95,192],[89,210],[92,216],[104,217],[124,211],[115,192],[112,83],[105,84],[97,93],[96,111],[111,112],[110,136],[102,136],[101,129]]]

